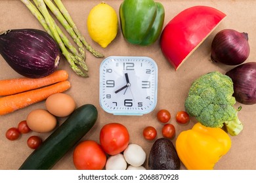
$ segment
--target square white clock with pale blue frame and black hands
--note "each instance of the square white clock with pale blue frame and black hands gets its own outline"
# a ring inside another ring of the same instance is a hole
[[[156,107],[158,66],[148,57],[109,57],[100,65],[100,106],[109,113],[142,115]]]

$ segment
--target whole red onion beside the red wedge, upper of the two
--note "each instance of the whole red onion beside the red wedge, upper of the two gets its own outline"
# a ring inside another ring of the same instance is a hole
[[[233,29],[219,31],[211,43],[211,60],[226,65],[239,65],[249,56],[247,33]]]

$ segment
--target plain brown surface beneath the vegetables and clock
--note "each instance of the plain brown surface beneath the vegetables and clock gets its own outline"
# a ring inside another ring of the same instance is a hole
[[[115,8],[117,14],[121,1],[105,1]],[[206,5],[223,11],[227,16],[221,24],[205,39],[198,49],[182,64],[178,71],[167,62],[161,53],[160,44],[156,42],[152,46],[142,47],[129,44],[123,38],[119,26],[116,39],[108,45],[107,48],[101,48],[93,42],[87,32],[87,16],[91,8],[100,3],[100,1],[63,1],[64,5],[70,12],[75,24],[80,29],[85,39],[99,52],[102,52],[107,58],[108,56],[148,56],[158,64],[158,104],[156,108],[143,116],[114,116],[102,110],[99,105],[99,67],[103,60],[95,58],[88,51],[86,52],[86,62],[89,67],[89,78],[81,78],[70,69],[66,59],[62,58],[58,69],[66,69],[70,77],[69,81],[72,88],[66,93],[74,97],[77,106],[91,103],[98,109],[98,120],[91,131],[83,137],[83,140],[94,140],[99,142],[100,129],[104,124],[110,122],[118,122],[127,127],[130,134],[130,143],[139,144],[146,152],[145,167],[148,167],[148,154],[154,141],[146,141],[142,136],[142,130],[147,125],[156,127],[158,138],[162,137],[160,124],[156,119],[156,113],[161,108],[166,108],[171,112],[170,123],[175,125],[176,135],[171,141],[175,144],[177,135],[186,129],[190,129],[196,120],[191,120],[186,125],[177,124],[175,114],[179,110],[184,110],[184,100],[188,94],[188,89],[192,81],[198,76],[210,71],[220,71],[226,73],[232,69],[232,66],[222,65],[220,63],[212,63],[209,61],[210,46],[214,35],[221,29],[236,29],[240,32],[247,32],[249,35],[249,44],[251,53],[247,61],[255,61],[256,58],[256,1],[252,0],[226,0],[226,1],[161,1],[165,7],[164,26],[176,14],[185,8],[194,5]],[[0,29],[21,29],[35,28],[43,29],[41,24],[37,22],[32,13],[21,1],[0,1]],[[0,57],[0,79],[18,78],[14,70],[9,67],[5,60]],[[240,106],[236,103],[236,107]],[[9,141],[5,138],[5,132],[10,127],[16,127],[18,122],[25,120],[28,112],[35,108],[45,108],[45,103],[40,102],[30,107],[26,107],[11,114],[0,116],[0,169],[18,169],[23,161],[32,153],[33,150],[28,148],[26,141],[31,135],[39,135],[45,140],[50,133],[39,134],[30,132],[24,134],[16,141]],[[242,105],[239,112],[239,118],[244,124],[244,130],[236,137],[230,137],[232,140],[232,148],[223,156],[215,165],[215,169],[256,169],[256,105]],[[64,118],[58,118],[60,124],[64,122]],[[75,169],[72,161],[72,148],[53,169]],[[181,165],[181,169],[185,169]]]

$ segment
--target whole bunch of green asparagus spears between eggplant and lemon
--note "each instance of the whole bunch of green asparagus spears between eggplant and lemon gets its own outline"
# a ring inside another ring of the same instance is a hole
[[[67,59],[70,67],[79,76],[88,77],[88,67],[85,63],[85,49],[89,50],[96,58],[102,58],[104,55],[93,49],[83,35],[81,35],[79,29],[74,24],[68,10],[62,4],[61,0],[20,0],[28,9],[32,12],[33,16],[39,20],[43,28],[60,46],[60,50],[64,57]],[[49,13],[48,8],[56,16],[57,20],[66,29],[69,35],[77,44],[77,48],[72,45],[68,37],[63,33],[63,31],[58,27],[55,20]]]

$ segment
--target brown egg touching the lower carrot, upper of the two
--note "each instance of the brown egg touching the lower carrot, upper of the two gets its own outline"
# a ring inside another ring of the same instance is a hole
[[[46,99],[45,106],[54,116],[65,117],[75,110],[75,101],[66,93],[55,93]]]

